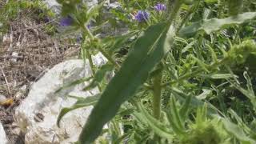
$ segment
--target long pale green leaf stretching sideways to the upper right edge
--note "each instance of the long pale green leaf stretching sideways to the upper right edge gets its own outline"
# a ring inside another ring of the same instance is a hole
[[[178,34],[180,37],[190,37],[196,34],[198,30],[204,30],[206,34],[210,34],[211,32],[220,30],[225,26],[241,24],[255,17],[256,12],[247,12],[223,19],[206,19],[202,20],[202,22],[193,22],[190,26],[183,27]]]

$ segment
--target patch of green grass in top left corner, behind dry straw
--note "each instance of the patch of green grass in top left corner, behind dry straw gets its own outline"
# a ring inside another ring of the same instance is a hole
[[[54,12],[50,10],[46,4],[40,0],[30,1],[15,1],[0,2],[0,40],[10,28],[10,23],[18,18],[34,18],[38,21],[49,21],[54,18]],[[49,23],[46,25],[46,31],[54,32],[54,25]]]

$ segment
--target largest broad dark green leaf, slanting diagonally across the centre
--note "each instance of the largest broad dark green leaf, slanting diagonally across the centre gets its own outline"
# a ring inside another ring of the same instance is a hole
[[[119,107],[134,95],[150,73],[170,50],[174,38],[173,26],[167,23],[150,26],[138,38],[134,49],[123,62],[122,67],[106,86],[92,110],[86,126],[80,135],[80,142],[90,143],[101,134],[102,127],[118,112]],[[150,40],[150,41],[149,41]]]

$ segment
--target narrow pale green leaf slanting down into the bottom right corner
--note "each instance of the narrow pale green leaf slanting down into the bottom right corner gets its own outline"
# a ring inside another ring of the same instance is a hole
[[[233,134],[235,138],[238,138],[242,142],[242,144],[256,143],[256,141],[246,136],[244,131],[240,127],[235,125],[233,122],[230,122],[225,118],[222,118],[222,122],[224,124],[224,128],[226,129],[226,131],[229,132],[230,134]]]

